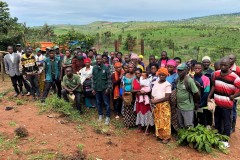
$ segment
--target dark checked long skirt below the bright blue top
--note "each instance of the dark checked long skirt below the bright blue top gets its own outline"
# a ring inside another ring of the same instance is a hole
[[[136,126],[136,113],[134,112],[133,100],[130,105],[123,105],[123,124],[125,127],[134,127]]]

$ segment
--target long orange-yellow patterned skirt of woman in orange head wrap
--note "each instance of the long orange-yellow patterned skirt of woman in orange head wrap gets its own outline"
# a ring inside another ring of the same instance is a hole
[[[171,108],[169,102],[156,104],[154,109],[156,136],[160,139],[171,138]]]

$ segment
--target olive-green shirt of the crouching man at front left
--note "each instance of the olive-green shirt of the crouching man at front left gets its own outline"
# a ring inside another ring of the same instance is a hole
[[[66,86],[69,89],[73,89],[80,83],[80,77],[76,74],[73,74],[73,77],[71,79],[69,79],[67,75],[65,75],[63,77],[62,85]],[[81,86],[79,86],[75,91],[81,92]]]

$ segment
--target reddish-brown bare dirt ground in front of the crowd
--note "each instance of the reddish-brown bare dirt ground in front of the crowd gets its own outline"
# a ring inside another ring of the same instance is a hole
[[[9,79],[0,82],[1,93],[9,88],[11,88]],[[206,154],[189,147],[178,146],[174,138],[167,145],[161,144],[153,135],[144,136],[136,133],[134,129],[121,128],[113,130],[113,134],[99,134],[93,126],[86,123],[65,123],[64,118],[49,118],[49,113],[40,114],[36,103],[26,97],[12,99],[13,94],[13,91],[10,91],[0,102],[0,133],[12,142],[15,128],[24,126],[29,136],[5,145],[5,148],[0,147],[0,159],[56,159],[56,155],[59,154],[74,155],[78,150],[77,146],[82,148],[87,159],[240,159],[239,119],[236,132],[231,136],[230,153],[226,155],[213,151]],[[24,100],[24,104],[17,105],[19,100]],[[6,106],[16,108],[5,111]]]

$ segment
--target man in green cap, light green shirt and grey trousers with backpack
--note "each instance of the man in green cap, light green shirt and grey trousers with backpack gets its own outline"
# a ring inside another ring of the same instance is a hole
[[[198,109],[199,90],[194,80],[189,77],[188,66],[182,63],[177,67],[179,79],[177,80],[177,112],[181,128],[194,127],[194,109]]]

